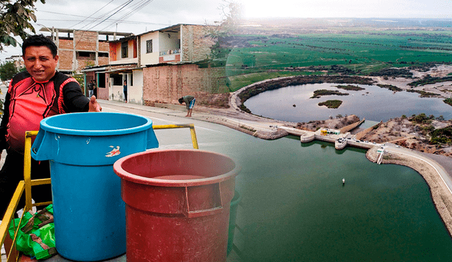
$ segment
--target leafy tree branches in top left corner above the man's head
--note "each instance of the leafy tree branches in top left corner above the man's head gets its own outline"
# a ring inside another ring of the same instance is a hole
[[[16,47],[17,41],[13,36],[25,40],[28,30],[35,33],[31,20],[36,22],[35,3],[45,0],[0,0],[0,51],[4,45]]]

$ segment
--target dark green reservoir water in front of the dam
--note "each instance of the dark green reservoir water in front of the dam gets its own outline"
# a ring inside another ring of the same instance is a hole
[[[452,261],[452,239],[414,170],[332,143],[195,125],[201,149],[242,166],[234,238],[242,261]],[[183,131],[177,138],[191,146]]]

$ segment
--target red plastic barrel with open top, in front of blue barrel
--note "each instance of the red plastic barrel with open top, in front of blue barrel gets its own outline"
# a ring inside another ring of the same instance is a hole
[[[126,203],[127,261],[226,261],[239,167],[204,150],[151,150],[113,165]]]

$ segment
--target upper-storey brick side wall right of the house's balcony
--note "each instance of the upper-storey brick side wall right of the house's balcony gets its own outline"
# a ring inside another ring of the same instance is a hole
[[[215,42],[208,35],[209,26],[182,25],[182,61],[200,61],[207,59],[210,47]]]

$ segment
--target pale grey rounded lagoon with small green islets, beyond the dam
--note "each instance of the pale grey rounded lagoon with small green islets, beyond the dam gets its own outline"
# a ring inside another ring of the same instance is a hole
[[[373,121],[387,121],[412,114],[433,114],[435,117],[444,116],[452,119],[452,107],[436,97],[420,97],[418,93],[405,91],[393,93],[386,88],[376,85],[359,85],[365,90],[351,91],[336,88],[335,83],[312,85],[294,85],[277,90],[260,93],[246,100],[244,105],[253,114],[272,119],[293,122],[307,122],[324,120],[338,114],[356,114],[359,118]],[[314,90],[338,90],[349,95],[326,95],[320,98],[309,98]],[[341,100],[343,104],[338,109],[328,109],[319,106],[319,102],[326,100]],[[294,107],[295,105],[295,107]]]

